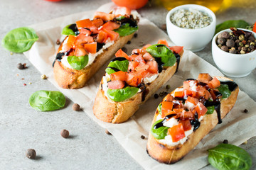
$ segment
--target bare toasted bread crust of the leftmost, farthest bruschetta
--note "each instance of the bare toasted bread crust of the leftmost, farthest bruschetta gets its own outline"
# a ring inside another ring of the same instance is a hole
[[[53,67],[55,81],[57,81],[58,85],[63,89],[82,88],[100,69],[100,67],[114,56],[114,53],[117,52],[117,50],[122,48],[129,40],[132,39],[133,35],[134,33],[118,38],[113,45],[104,49],[100,55],[97,55],[90,66],[81,70],[70,69],[56,60]]]

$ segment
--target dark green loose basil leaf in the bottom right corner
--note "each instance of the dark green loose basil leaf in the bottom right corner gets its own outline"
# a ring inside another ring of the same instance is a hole
[[[208,162],[219,170],[247,170],[252,166],[250,154],[235,145],[220,144],[208,152]]]

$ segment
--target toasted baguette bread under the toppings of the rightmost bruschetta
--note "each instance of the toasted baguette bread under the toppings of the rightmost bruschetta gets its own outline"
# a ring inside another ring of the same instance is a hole
[[[231,81],[225,77],[217,77],[220,81]],[[182,87],[182,86],[181,86]],[[180,87],[180,88],[181,88]],[[220,118],[224,118],[225,115],[229,113],[229,111],[235,105],[235,101],[238,97],[238,86],[237,88],[232,91],[231,95],[228,98],[221,99],[220,101]],[[174,91],[171,92],[174,94]],[[165,100],[165,98],[164,98]],[[164,101],[163,100],[163,101]],[[157,115],[159,115],[158,111],[156,110],[156,114],[154,115],[153,123],[156,122]],[[188,152],[190,152],[198,142],[200,142],[203,137],[205,137],[210,130],[218,124],[218,115],[217,112],[214,111],[213,114],[206,114],[203,116],[203,120],[201,120],[201,125],[198,129],[193,131],[191,135],[188,135],[186,142],[182,145],[179,143],[176,146],[170,145],[163,145],[157,140],[151,132],[149,133],[149,140],[147,143],[146,151],[148,152],[149,156],[156,159],[158,162],[162,162],[165,164],[174,164],[178,162],[180,159],[186,156]],[[152,123],[152,124],[153,124]]]

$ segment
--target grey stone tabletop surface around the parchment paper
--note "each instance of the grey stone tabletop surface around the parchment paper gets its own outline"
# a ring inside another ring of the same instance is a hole
[[[1,0],[0,39],[9,30],[29,26],[66,16],[72,13],[96,9],[109,0]],[[218,23],[228,19],[256,21],[256,5],[251,8],[231,8],[217,14]],[[139,9],[143,17],[161,26],[165,23],[165,8],[149,6]],[[210,44],[196,54],[214,64]],[[34,91],[57,90],[28,62],[23,54],[11,55],[0,46],[0,169],[142,169],[119,145],[112,135],[92,122],[84,112],[73,111],[72,101],[64,109],[52,112],[38,112],[29,106],[28,98]],[[16,65],[27,63],[27,69]],[[256,101],[256,70],[245,78],[235,79],[240,89]],[[31,84],[29,84],[31,83]],[[26,84],[26,86],[23,86]],[[60,136],[60,130],[67,129],[70,138]],[[140,139],[138,139],[140,140]],[[247,145],[241,145],[250,153],[253,168],[256,169],[256,137]],[[26,149],[36,149],[37,159],[26,158]],[[203,169],[213,169],[207,166]]]

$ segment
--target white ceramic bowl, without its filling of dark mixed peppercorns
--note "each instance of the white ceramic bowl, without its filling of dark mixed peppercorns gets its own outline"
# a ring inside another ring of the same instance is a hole
[[[240,30],[245,30],[238,28]],[[247,54],[231,54],[221,50],[217,46],[217,36],[224,31],[232,32],[230,29],[217,33],[212,40],[212,54],[215,64],[223,74],[229,77],[245,77],[256,67],[256,50]],[[250,31],[250,30],[246,30]],[[252,32],[252,31],[250,31]],[[252,32],[253,33],[253,32]],[[256,33],[253,33],[256,39]]]

